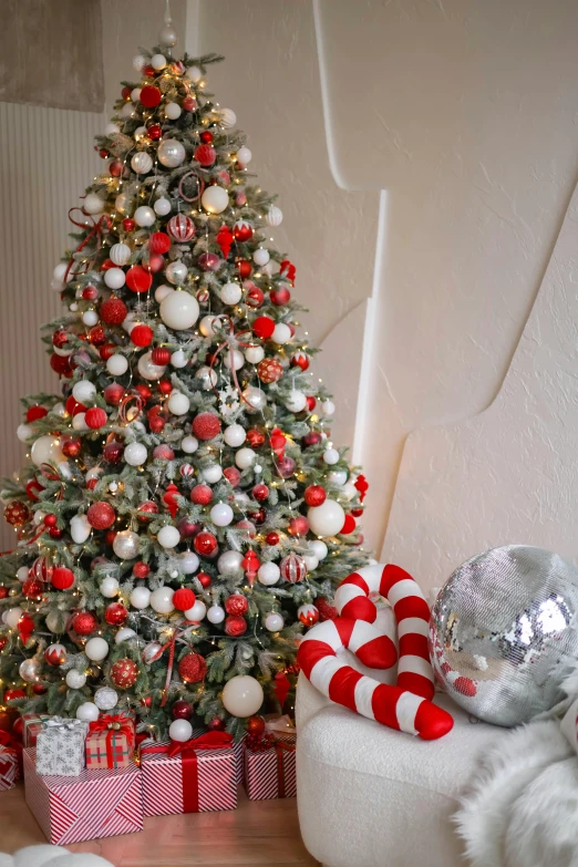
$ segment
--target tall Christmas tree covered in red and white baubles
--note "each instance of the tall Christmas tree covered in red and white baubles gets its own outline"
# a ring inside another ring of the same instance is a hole
[[[23,400],[2,493],[0,677],[22,712],[185,740],[282,708],[300,633],[367,562],[367,484],[331,442],[282,213],[206,91],[221,58],[174,44],[135,58],[70,211],[44,337],[61,394]]]

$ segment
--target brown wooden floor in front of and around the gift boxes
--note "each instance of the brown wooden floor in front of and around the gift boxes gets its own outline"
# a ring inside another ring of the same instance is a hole
[[[19,783],[0,792],[0,849],[45,843]],[[72,851],[92,851],[115,867],[296,867],[318,865],[299,835],[297,803],[248,801],[239,791],[236,811],[145,818],[144,830],[122,837],[76,843]]]

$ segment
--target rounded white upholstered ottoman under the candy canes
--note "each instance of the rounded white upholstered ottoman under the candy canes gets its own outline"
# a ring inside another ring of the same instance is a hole
[[[324,867],[463,867],[451,816],[477,755],[508,730],[469,722],[447,695],[436,703],[454,729],[425,742],[331,704],[300,675],[299,823]]]

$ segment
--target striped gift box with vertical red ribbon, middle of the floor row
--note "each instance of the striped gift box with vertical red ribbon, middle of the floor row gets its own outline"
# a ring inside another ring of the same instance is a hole
[[[141,771],[146,816],[237,806],[233,737],[226,732],[143,746]]]

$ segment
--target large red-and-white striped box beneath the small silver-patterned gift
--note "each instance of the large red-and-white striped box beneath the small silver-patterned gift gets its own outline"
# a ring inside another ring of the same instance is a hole
[[[118,771],[84,768],[80,776],[40,776],[35,750],[24,750],[27,804],[58,846],[132,834],[143,828],[143,791],[136,765]]]

